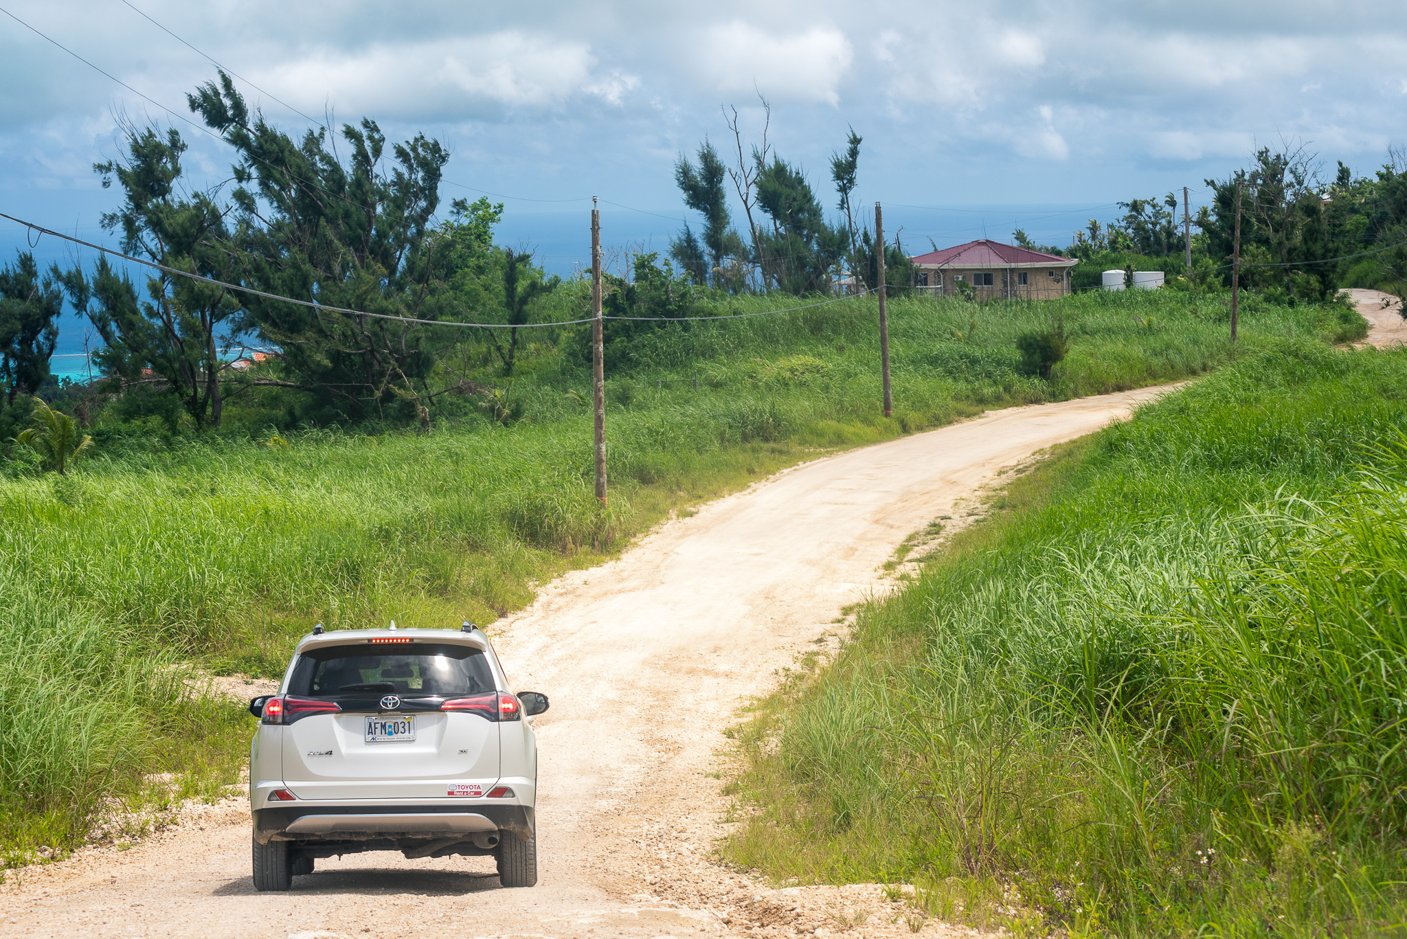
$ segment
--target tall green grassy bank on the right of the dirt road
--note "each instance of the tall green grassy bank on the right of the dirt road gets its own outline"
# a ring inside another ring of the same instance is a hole
[[[1058,450],[739,728],[725,856],[1034,935],[1400,931],[1403,387],[1285,344]]]

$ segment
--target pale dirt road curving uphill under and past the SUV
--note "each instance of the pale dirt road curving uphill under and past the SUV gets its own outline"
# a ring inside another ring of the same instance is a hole
[[[502,890],[491,859],[376,853],[256,894],[248,812],[229,800],[125,852],[90,849],[18,883],[11,871],[0,936],[910,935],[917,924],[878,887],[772,891],[708,862],[725,831],[722,732],[777,670],[834,642],[841,607],[882,588],[906,535],[960,514],[1002,467],[1158,393],[995,411],[795,467],[492,626],[515,687],[553,701],[536,719],[535,888]]]

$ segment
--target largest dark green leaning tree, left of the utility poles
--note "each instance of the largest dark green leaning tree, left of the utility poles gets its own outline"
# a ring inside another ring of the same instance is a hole
[[[224,72],[187,100],[239,158],[231,194],[239,283],[319,304],[243,294],[242,325],[276,344],[287,384],[325,407],[348,417],[416,414],[418,398],[432,393],[435,351],[453,338],[397,317],[466,313],[443,289],[453,241],[432,225],[449,152],[416,135],[387,153],[380,127],[363,118],[342,125],[343,162],[325,128],[295,142],[252,114]]]

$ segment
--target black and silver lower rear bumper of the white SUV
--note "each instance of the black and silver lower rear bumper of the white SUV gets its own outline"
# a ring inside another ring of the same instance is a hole
[[[253,811],[255,840],[360,840],[439,838],[474,832],[511,832],[532,838],[533,809],[528,805],[279,805]]]

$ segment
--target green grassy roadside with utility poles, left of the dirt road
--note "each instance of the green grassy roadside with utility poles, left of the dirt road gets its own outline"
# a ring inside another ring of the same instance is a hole
[[[867,303],[635,342],[611,382],[608,511],[591,493],[585,373],[570,335],[529,348],[511,425],[225,436],[100,427],[80,473],[0,480],[0,595],[17,611],[3,631],[48,649],[4,666],[7,712],[21,717],[0,745],[0,850],[15,862],[72,845],[106,800],[169,801],[231,779],[248,718],[172,679],[184,663],[274,674],[315,621],[491,622],[528,603],[533,583],[619,550],[671,508],[784,466],[1230,356],[1217,297],[896,301],[900,404],[884,420]],[[1051,380],[1021,373],[1016,336],[1057,315],[1071,355]],[[1251,304],[1242,320],[1248,348],[1344,328],[1332,308]],[[694,373],[698,391],[656,386]],[[89,635],[98,645],[80,642]],[[49,695],[42,708],[28,705],[35,688]]]

